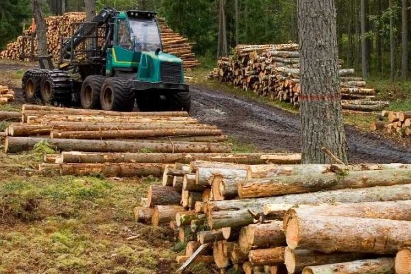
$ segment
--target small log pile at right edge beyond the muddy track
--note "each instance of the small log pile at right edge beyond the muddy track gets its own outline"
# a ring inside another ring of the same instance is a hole
[[[385,131],[387,134],[410,137],[411,136],[411,111],[392,112],[383,110],[379,121],[372,122],[370,130]]]

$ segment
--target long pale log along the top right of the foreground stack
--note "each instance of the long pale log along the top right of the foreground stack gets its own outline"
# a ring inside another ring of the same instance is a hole
[[[326,173],[251,179],[238,182],[238,196],[240,198],[273,197],[321,190],[369,188],[398,184],[411,184],[411,169],[352,171],[343,175]]]

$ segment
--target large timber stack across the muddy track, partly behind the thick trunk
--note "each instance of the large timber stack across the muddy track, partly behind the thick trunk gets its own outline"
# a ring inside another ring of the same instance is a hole
[[[343,60],[339,60],[340,64]],[[361,77],[352,77],[353,69],[340,69],[343,110],[374,112],[384,110],[388,101],[373,101],[375,90],[366,88]],[[221,58],[208,74],[209,79],[227,82],[260,96],[299,105],[299,45],[238,45],[234,55]]]

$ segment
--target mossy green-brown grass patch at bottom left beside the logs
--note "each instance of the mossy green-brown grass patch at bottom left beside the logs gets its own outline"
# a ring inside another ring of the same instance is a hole
[[[182,249],[173,250],[173,232],[134,221],[134,207],[158,179],[38,175],[34,167],[48,149],[41,144],[29,153],[0,152],[1,274],[177,269]],[[209,273],[206,266],[191,269]]]

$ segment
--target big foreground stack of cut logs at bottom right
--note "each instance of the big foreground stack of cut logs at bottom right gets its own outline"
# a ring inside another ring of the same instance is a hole
[[[166,166],[136,220],[169,225],[187,243],[177,262],[212,263],[221,273],[409,273],[411,164],[271,157]]]

